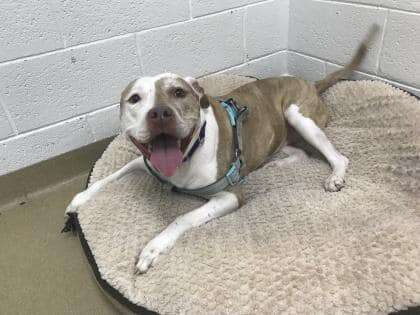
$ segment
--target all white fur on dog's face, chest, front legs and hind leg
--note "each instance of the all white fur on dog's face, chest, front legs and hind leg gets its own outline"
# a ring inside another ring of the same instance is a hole
[[[163,76],[176,77],[172,74],[163,74],[153,78],[148,77],[139,79],[135,82],[131,92],[127,96],[127,98],[129,98],[133,93],[138,93],[142,98],[140,101],[141,104],[131,105],[126,103],[126,106],[124,107],[125,110],[122,113],[123,130],[140,141],[143,141],[147,137],[148,131],[146,130],[147,127],[145,127],[147,125],[146,114],[154,104],[156,93],[155,81]],[[187,82],[189,84],[194,84],[196,81],[188,78]],[[285,117],[290,125],[293,126],[306,141],[321,151],[331,164],[333,172],[325,182],[325,188],[329,191],[337,191],[343,187],[344,175],[348,164],[347,158],[335,150],[322,130],[316,126],[311,119],[304,117],[299,112],[299,107],[297,105],[292,104],[289,106],[285,112]],[[200,127],[204,122],[207,124],[204,143],[188,161],[184,162],[176,170],[173,176],[166,178],[169,182],[178,187],[188,189],[199,188],[211,184],[217,179],[219,128],[211,107],[200,110]],[[199,128],[197,128],[197,130],[199,130]],[[198,134],[196,133],[193,141],[197,136]],[[283,151],[289,154],[289,157],[281,162],[281,165],[306,156],[301,150],[293,147],[285,147],[283,148]],[[142,157],[128,163],[119,171],[92,184],[86,191],[76,195],[68,206],[66,213],[77,211],[78,207],[91,199],[106,184],[118,180],[124,175],[139,168],[145,168]],[[178,217],[142,250],[138,263],[136,264],[137,272],[146,272],[148,268],[157,261],[159,255],[167,253],[174,246],[177,239],[189,229],[234,211],[238,206],[239,201],[235,194],[220,192],[215,194],[203,206]]]

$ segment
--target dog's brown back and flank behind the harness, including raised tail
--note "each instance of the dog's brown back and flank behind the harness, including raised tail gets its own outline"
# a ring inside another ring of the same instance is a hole
[[[320,94],[360,66],[378,31],[378,25],[373,25],[350,63],[320,81],[312,83],[290,76],[267,78],[250,82],[222,96],[223,99],[233,98],[249,108],[250,114],[243,126],[246,173],[258,168],[267,156],[288,142],[291,127],[284,112],[290,105],[297,105],[303,116],[312,119],[320,128],[325,127],[328,111]]]

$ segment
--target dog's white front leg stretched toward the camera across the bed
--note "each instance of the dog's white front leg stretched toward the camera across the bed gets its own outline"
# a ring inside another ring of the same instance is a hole
[[[144,273],[156,263],[160,254],[167,253],[177,239],[193,227],[226,215],[239,207],[236,194],[222,191],[214,195],[203,206],[179,216],[142,250],[136,265],[136,273]]]

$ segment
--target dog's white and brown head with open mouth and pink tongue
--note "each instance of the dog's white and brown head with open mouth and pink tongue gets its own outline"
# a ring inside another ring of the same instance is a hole
[[[208,106],[209,100],[194,78],[171,73],[143,77],[121,94],[122,131],[169,177],[182,163],[199,127],[200,109]]]

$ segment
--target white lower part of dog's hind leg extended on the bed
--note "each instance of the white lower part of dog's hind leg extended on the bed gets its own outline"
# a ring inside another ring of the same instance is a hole
[[[325,190],[339,191],[344,187],[344,176],[349,160],[339,153],[325,133],[315,124],[315,122],[303,116],[299,112],[299,107],[295,104],[290,105],[285,111],[288,123],[312,146],[319,150],[331,165],[332,173],[325,181]]]

